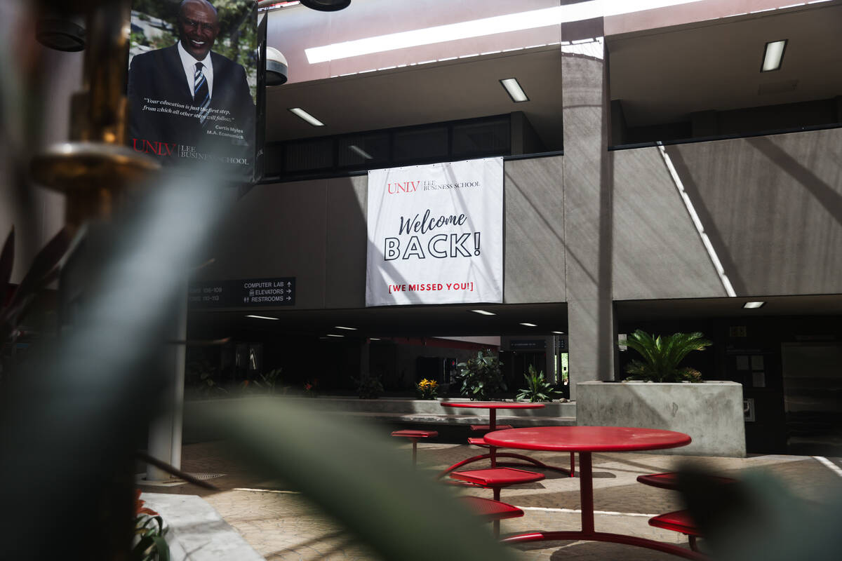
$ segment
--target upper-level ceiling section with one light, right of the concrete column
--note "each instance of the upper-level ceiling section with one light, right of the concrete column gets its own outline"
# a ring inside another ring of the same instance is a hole
[[[610,93],[631,127],[690,113],[842,95],[842,4],[798,6],[606,39]],[[765,44],[789,40],[781,69],[761,72]]]

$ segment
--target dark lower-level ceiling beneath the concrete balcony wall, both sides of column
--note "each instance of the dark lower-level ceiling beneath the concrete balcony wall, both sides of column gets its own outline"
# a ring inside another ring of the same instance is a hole
[[[626,300],[616,302],[616,317],[623,324],[658,320],[750,319],[757,317],[839,316],[842,294],[767,296],[757,310],[743,309],[755,298]],[[470,310],[488,310],[479,315]],[[246,315],[268,315],[278,320],[257,320]],[[533,323],[527,327],[520,323]],[[336,325],[356,327],[341,331]],[[328,333],[357,337],[399,336],[546,336],[568,331],[568,306],[546,304],[471,304],[445,306],[390,306],[363,310],[239,310],[192,311],[191,337],[224,337],[234,331],[323,336]]]

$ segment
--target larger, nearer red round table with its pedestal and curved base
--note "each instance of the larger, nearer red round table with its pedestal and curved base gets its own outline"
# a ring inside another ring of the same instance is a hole
[[[672,553],[689,559],[706,559],[704,555],[671,543],[596,532],[594,530],[594,452],[641,452],[662,450],[690,444],[690,437],[683,432],[629,426],[533,426],[489,432],[489,444],[521,450],[551,452],[578,452],[579,493],[582,497],[582,529],[562,532],[527,532],[506,537],[504,542],[538,542],[553,540],[591,540],[615,542]]]

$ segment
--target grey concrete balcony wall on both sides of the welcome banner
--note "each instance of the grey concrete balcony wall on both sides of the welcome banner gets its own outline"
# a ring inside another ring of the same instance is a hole
[[[738,295],[842,293],[840,151],[842,129],[667,148]],[[601,185],[569,151],[505,162],[504,302],[569,302],[591,282],[594,299],[606,286],[614,300],[726,295],[658,148],[610,154]],[[365,176],[232,193],[202,273],[296,276],[298,308],[363,307],[366,194]]]

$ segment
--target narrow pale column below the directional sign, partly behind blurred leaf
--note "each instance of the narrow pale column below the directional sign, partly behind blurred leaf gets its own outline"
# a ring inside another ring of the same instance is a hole
[[[173,321],[168,339],[187,339],[187,283],[184,283],[184,298],[173,310]],[[184,363],[187,357],[185,345],[166,345],[163,348],[162,368],[168,372],[170,384],[164,392],[164,403],[160,415],[149,425],[148,453],[152,458],[167,462],[174,468],[181,468],[181,436],[184,422]],[[171,475],[155,466],[147,466],[147,481],[171,479]]]

